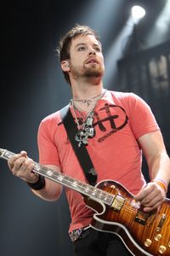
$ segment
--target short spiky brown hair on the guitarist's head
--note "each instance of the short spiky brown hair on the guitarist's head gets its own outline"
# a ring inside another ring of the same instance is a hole
[[[59,46],[57,48],[57,54],[59,55],[59,61],[65,61],[70,59],[70,49],[71,49],[71,40],[77,38],[80,35],[93,35],[99,42],[99,35],[89,26],[76,25],[68,31],[63,38],[59,41]],[[65,80],[67,83],[71,84],[69,74],[63,71]]]

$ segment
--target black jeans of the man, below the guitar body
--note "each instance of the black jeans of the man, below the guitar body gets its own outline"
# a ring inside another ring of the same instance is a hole
[[[118,236],[92,228],[82,231],[73,244],[75,256],[132,256]]]

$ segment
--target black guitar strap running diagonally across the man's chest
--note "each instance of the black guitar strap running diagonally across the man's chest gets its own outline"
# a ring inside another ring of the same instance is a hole
[[[77,154],[77,159],[79,160],[79,163],[82,166],[82,170],[84,171],[88,183],[94,186],[97,182],[97,174],[94,170],[94,165],[89,157],[86,146],[82,144],[79,148],[78,143],[75,141],[75,135],[77,133],[77,124],[75,123],[72,117],[69,105],[67,105],[65,108],[62,108],[59,111],[59,113],[63,120],[63,124],[65,126],[67,135],[71,141],[72,148]]]

